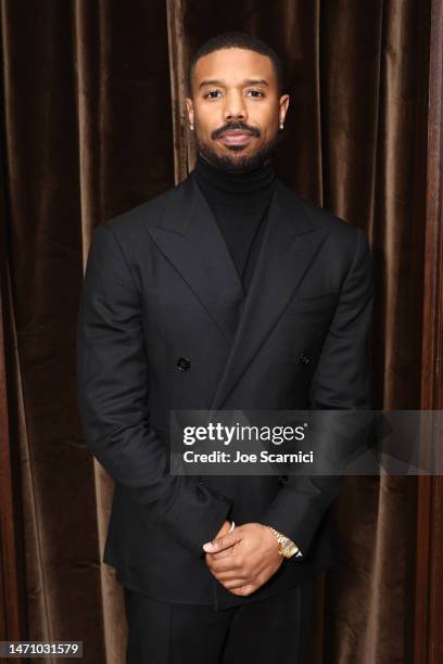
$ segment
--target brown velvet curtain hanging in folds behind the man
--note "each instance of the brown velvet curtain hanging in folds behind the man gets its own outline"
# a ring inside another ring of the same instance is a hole
[[[224,29],[263,38],[283,58],[292,99],[281,177],[369,233],[374,407],[419,408],[427,2],[1,0],[0,8],[0,381],[21,505],[23,629],[29,639],[83,640],[86,662],[117,664],[122,593],[101,564],[113,482],[85,448],[75,397],[91,229],[192,167],[182,103],[189,53]],[[333,508],[338,565],[318,577],[316,664],[412,662],[416,484],[346,478]]]

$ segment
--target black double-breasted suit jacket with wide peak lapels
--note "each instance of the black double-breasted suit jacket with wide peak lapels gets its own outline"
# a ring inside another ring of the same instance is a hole
[[[78,404],[88,449],[116,483],[103,560],[121,583],[223,609],[332,564],[328,508],[340,477],[172,475],[169,411],[367,409],[371,308],[366,233],[281,180],[246,294],[192,174],[96,228]],[[303,559],[249,597],[230,593],[202,550],[227,518],[274,525]]]

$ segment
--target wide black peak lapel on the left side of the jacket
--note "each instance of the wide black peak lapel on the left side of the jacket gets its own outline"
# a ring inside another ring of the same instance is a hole
[[[244,290],[192,174],[170,193],[161,225],[148,231],[232,343]]]

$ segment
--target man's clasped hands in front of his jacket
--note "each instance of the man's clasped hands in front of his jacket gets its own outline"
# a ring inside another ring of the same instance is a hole
[[[233,595],[255,592],[283,562],[273,532],[261,523],[236,526],[225,522],[216,537],[203,545],[211,573]]]

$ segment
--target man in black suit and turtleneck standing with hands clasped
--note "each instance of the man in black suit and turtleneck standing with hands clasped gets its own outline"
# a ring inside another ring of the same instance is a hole
[[[367,237],[276,176],[288,106],[269,47],[211,39],[189,67],[195,169],[92,235],[78,397],[116,482],[103,560],[130,663],[301,664],[332,564],[340,477],[168,468],[173,409],[368,408]]]

